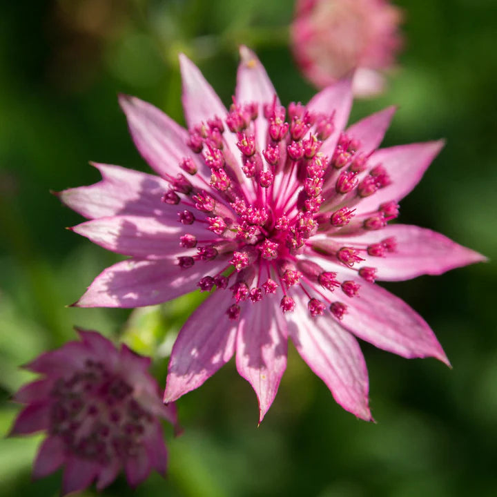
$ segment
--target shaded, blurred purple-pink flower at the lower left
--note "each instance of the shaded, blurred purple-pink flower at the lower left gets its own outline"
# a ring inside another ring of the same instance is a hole
[[[124,467],[128,483],[142,482],[155,468],[166,470],[166,447],[159,418],[175,423],[175,407],[165,407],[148,374],[150,359],[126,345],[118,351],[95,331],[79,330],[81,341],[43,353],[26,366],[43,378],[26,384],[14,400],[26,404],[13,435],[46,431],[33,476],[64,465],[62,493],[82,490],[95,480],[101,490]]]

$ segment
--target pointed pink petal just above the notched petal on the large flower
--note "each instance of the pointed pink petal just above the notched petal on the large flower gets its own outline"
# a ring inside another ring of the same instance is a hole
[[[204,162],[186,145],[189,137],[186,129],[162,110],[136,97],[119,95],[119,104],[128,119],[136,148],[159,175],[167,178],[184,173],[179,163],[184,157],[191,157],[197,169],[210,177]],[[202,186],[198,177],[188,176],[188,180]]]

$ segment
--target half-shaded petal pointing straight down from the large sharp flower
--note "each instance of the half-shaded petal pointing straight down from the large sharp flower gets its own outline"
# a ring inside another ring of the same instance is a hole
[[[245,307],[237,335],[236,364],[255,390],[259,422],[273,403],[286,369],[286,322],[275,298]]]

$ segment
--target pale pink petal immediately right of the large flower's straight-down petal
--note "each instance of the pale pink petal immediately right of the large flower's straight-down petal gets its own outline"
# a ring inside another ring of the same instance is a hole
[[[304,299],[296,292],[293,298],[297,307],[289,321],[289,335],[298,353],[338,404],[371,421],[366,362],[357,340],[329,317],[311,318]]]

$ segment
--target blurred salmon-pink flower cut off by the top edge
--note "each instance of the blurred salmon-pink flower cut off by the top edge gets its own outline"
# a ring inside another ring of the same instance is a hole
[[[400,9],[387,0],[298,0],[291,43],[304,75],[324,88],[355,71],[353,92],[382,92],[400,48]]]

